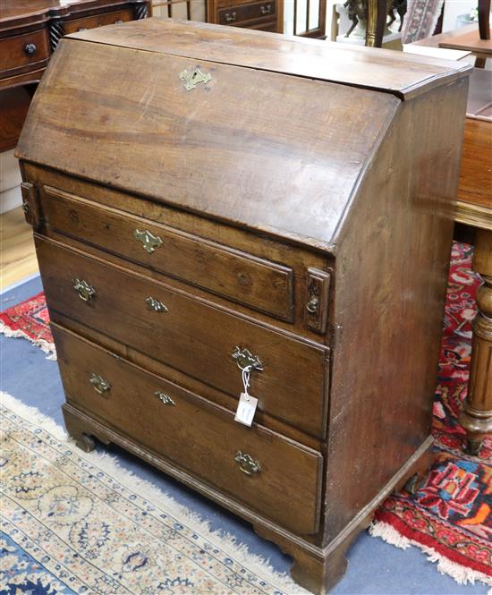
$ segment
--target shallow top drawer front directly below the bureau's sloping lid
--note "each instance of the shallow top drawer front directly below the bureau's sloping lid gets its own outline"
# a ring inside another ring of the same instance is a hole
[[[43,216],[63,234],[276,318],[293,319],[291,268],[47,187]]]

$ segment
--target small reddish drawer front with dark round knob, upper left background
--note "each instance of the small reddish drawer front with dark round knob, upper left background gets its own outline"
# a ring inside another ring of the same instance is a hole
[[[29,64],[37,64],[48,57],[46,30],[0,40],[0,71],[5,71],[3,75]]]

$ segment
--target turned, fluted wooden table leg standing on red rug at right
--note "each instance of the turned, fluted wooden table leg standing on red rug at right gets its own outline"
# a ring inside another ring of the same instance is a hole
[[[482,440],[492,432],[492,231],[477,229],[473,269],[483,279],[477,291],[479,312],[473,320],[468,395],[459,421],[466,429],[468,452],[478,455]]]

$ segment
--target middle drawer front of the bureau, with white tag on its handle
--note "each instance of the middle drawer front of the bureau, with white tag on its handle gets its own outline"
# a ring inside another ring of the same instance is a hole
[[[55,242],[37,237],[36,246],[50,310],[231,395],[232,408],[242,392],[233,352],[247,348],[263,364],[250,379],[259,409],[313,436],[324,435],[324,348]]]

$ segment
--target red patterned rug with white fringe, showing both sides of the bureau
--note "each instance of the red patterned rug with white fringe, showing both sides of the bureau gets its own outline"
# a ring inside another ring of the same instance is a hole
[[[465,455],[457,422],[466,395],[471,320],[479,279],[471,272],[470,246],[454,243],[445,306],[445,328],[434,403],[436,462],[413,496],[389,497],[370,532],[401,548],[416,545],[457,582],[492,585],[492,439],[479,456]],[[8,336],[24,336],[55,353],[43,293],[0,313]]]

